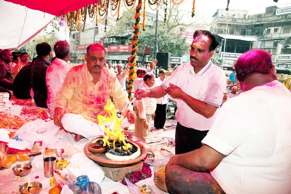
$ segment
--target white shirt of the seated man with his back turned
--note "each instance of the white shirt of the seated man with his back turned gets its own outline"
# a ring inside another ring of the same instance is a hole
[[[227,194],[291,194],[291,92],[272,81],[221,109],[202,140],[226,155],[212,177]]]

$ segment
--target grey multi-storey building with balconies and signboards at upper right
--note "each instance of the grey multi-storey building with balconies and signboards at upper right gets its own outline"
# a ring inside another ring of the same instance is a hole
[[[291,70],[291,7],[267,7],[265,13],[248,15],[248,11],[218,9],[212,16],[211,29],[220,40],[216,52],[224,66],[234,65],[249,49],[265,49],[272,54],[276,70]],[[225,54],[224,54],[225,53]]]

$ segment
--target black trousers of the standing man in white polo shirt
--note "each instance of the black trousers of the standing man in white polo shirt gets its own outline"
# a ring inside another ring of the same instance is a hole
[[[175,134],[175,154],[183,154],[202,147],[201,141],[208,130],[196,130],[177,123]]]

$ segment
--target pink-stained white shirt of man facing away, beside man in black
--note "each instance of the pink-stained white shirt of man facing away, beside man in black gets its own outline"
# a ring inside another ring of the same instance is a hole
[[[49,113],[53,116],[55,109],[55,97],[57,92],[62,87],[65,77],[71,67],[64,60],[56,58],[49,65],[46,72],[46,85],[48,88],[47,106]]]

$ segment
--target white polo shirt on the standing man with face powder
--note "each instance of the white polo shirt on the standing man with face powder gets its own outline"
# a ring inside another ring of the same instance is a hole
[[[211,61],[197,74],[190,63],[184,63],[179,65],[171,76],[163,82],[166,87],[169,87],[169,83],[177,85],[183,92],[195,99],[220,108],[226,90],[226,75]],[[180,99],[177,99],[177,107],[176,118],[178,122],[184,127],[201,131],[211,128],[219,112],[216,110],[212,117],[205,118],[194,112]]]

